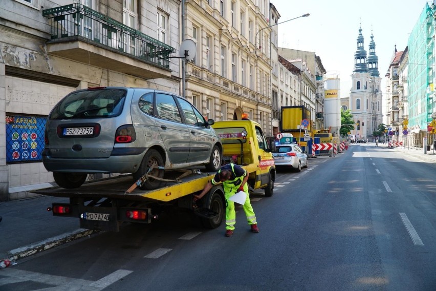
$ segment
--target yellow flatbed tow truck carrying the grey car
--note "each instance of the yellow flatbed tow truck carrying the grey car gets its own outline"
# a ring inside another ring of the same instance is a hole
[[[249,173],[250,192],[264,189],[265,196],[272,196],[275,143],[267,141],[260,124],[243,118],[216,121],[212,127],[223,142],[223,163],[237,163]],[[174,207],[190,210],[200,216],[203,226],[216,228],[225,216],[222,184],[193,201],[193,194],[199,194],[215,173],[199,169],[184,169],[182,174],[166,171],[162,186],[149,191],[132,187],[132,176],[124,175],[90,181],[75,189],[54,186],[32,192],[68,197],[69,203],[53,203],[48,211],[53,216],[78,218],[81,228],[91,230],[118,232],[125,222],[151,223]]]

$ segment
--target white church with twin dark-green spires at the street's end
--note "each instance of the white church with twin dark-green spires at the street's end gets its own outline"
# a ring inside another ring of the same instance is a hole
[[[373,141],[373,132],[383,122],[381,78],[374,35],[371,33],[367,57],[362,27],[359,27],[357,49],[354,53],[354,70],[351,77],[353,86],[350,91],[349,109],[352,111],[355,122],[355,130],[351,134],[355,139]]]

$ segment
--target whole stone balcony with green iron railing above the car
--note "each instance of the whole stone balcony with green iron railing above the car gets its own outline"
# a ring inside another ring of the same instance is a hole
[[[157,39],[77,3],[42,15],[49,19],[49,54],[145,79],[171,77],[176,50]]]

